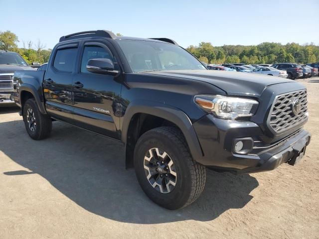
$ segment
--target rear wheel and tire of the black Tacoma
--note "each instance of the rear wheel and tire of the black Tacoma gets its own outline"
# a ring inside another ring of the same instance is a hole
[[[34,99],[28,99],[23,106],[23,121],[27,133],[32,139],[48,137],[52,130],[52,120],[42,115]]]

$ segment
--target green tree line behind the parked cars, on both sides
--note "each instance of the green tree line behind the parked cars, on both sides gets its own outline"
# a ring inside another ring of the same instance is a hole
[[[117,33],[117,35],[121,34]],[[0,50],[17,52],[28,64],[48,62],[51,49],[44,49],[45,45],[40,40],[37,43],[22,40],[22,48],[17,47],[18,42],[18,37],[13,32],[0,32]],[[214,47],[210,42],[201,42],[198,46],[190,45],[186,49],[200,61],[210,64],[272,64],[279,62],[307,64],[319,61],[319,46],[314,43],[300,45],[293,42],[282,45],[275,42],[263,42],[252,46]]]

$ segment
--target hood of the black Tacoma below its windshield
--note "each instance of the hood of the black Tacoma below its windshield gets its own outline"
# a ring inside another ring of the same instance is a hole
[[[263,76],[244,72],[213,71],[213,70],[178,70],[152,71],[145,74],[179,77],[206,82],[225,91],[228,95],[260,97],[262,92],[275,84],[299,84],[293,80],[276,76]]]

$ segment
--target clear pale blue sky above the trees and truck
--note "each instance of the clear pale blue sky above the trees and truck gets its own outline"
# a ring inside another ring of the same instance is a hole
[[[285,23],[285,26],[281,26]],[[0,31],[53,48],[62,35],[107,29],[183,47],[264,41],[319,44],[319,0],[0,0]]]

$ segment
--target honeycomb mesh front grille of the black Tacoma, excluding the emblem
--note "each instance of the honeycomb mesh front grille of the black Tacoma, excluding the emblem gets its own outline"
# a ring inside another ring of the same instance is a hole
[[[299,113],[293,112],[293,101],[298,98],[301,103]],[[308,118],[307,91],[296,91],[279,95],[270,110],[269,125],[276,133],[286,131]]]

